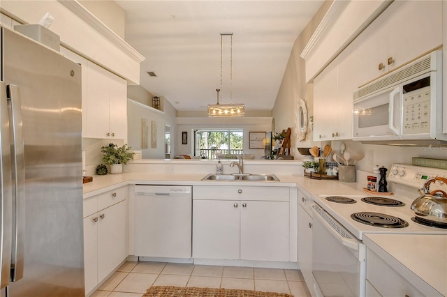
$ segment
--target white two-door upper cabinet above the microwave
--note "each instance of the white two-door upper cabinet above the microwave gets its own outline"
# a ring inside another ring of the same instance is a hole
[[[357,39],[362,85],[442,45],[442,1],[394,1]]]

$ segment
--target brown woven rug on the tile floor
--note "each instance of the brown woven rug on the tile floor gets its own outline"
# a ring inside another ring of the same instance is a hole
[[[156,286],[147,289],[142,297],[293,297],[284,293],[260,292],[237,289],[181,288]]]

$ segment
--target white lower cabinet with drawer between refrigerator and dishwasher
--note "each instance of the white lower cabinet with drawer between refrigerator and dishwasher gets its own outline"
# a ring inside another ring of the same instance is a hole
[[[84,200],[86,294],[127,257],[126,190],[123,187]]]

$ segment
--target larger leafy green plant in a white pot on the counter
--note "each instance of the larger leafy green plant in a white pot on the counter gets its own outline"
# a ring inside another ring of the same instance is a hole
[[[103,163],[110,165],[110,174],[120,174],[123,172],[123,164],[132,160],[133,154],[130,151],[131,147],[124,144],[124,146],[117,146],[116,144],[109,144],[101,147],[103,153]]]

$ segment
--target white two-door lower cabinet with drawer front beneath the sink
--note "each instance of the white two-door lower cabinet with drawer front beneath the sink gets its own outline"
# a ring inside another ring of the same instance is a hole
[[[194,258],[289,261],[288,188],[197,186],[193,193]]]

